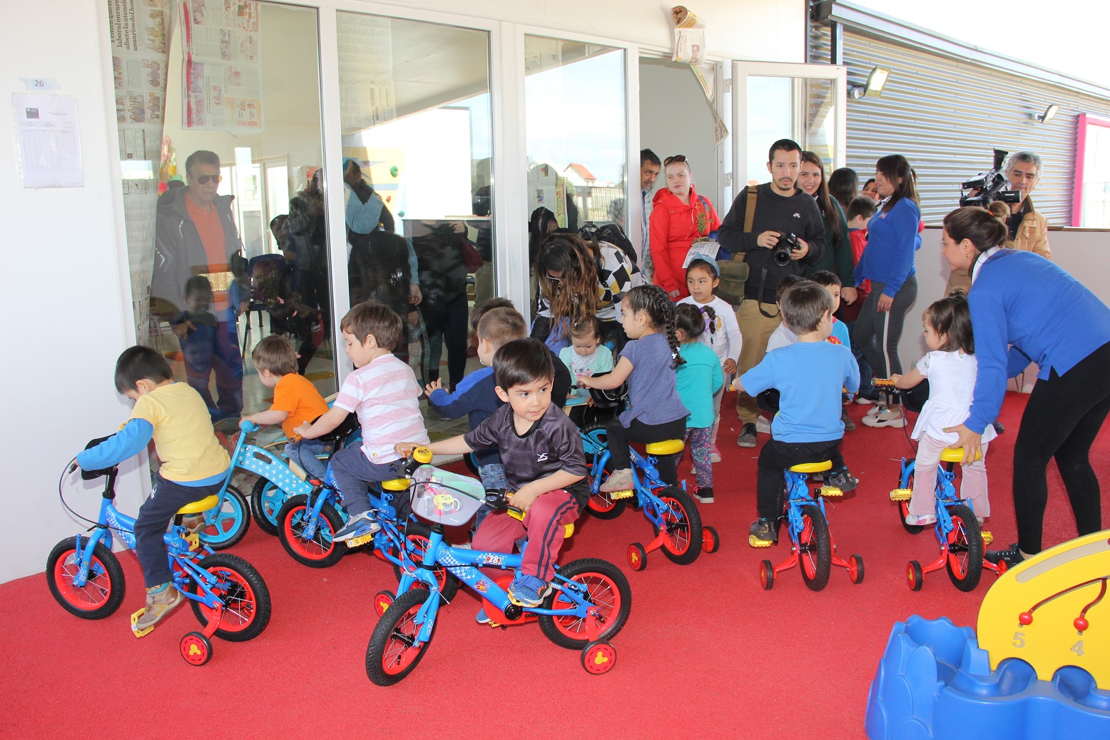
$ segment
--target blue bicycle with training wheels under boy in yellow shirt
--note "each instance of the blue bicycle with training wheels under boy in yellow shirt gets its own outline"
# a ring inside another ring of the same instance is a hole
[[[73,462],[58,482],[58,494],[65,509],[84,519],[65,503],[62,483],[77,470]],[[92,523],[91,534],[70,537],[51,550],[47,558],[47,583],[58,603],[82,619],[103,619],[123,602],[127,586],[120,561],[112,553],[112,532],[132,550],[135,547],[135,520],[115,508],[118,468],[82,470],[81,477],[93,480],[105,477],[100,514]],[[249,562],[230,553],[213,553],[201,547],[195,534],[181,524],[184,514],[212,511],[219,502],[210,496],[182,507],[173,527],[165,533],[173,586],[190,600],[193,614],[203,627],[181,639],[181,656],[192,666],[203,666],[212,658],[212,636],[230,642],[256,638],[270,621],[270,591],[262,576]],[[143,637],[152,627],[135,630],[134,623],[143,609],[131,616],[135,637]]]

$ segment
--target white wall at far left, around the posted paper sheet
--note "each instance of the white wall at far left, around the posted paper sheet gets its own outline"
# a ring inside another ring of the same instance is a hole
[[[58,477],[85,442],[117,429],[129,404],[112,373],[131,342],[122,198],[109,172],[119,143],[108,34],[99,2],[6,3],[0,30],[0,202],[3,202],[4,309],[0,311],[0,387],[4,388],[0,507],[0,581],[42,571],[63,537],[84,530],[58,501]],[[57,81],[77,98],[84,187],[24,190],[16,176],[10,93],[22,77]],[[133,469],[132,464],[132,469]],[[121,481],[120,503],[134,511],[138,474]],[[94,514],[95,490],[69,491]]]

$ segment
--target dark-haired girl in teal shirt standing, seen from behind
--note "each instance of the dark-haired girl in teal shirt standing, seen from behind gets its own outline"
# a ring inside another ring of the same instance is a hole
[[[695,496],[702,503],[713,503],[713,396],[725,384],[717,353],[699,341],[706,318],[696,306],[675,307],[675,334],[682,347],[678,353],[686,360],[678,366],[678,398],[690,414],[686,418],[686,444],[694,459],[697,474]]]

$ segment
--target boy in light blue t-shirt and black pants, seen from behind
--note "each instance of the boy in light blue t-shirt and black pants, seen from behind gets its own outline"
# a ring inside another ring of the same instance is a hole
[[[781,298],[783,321],[796,334],[794,344],[767,352],[763,361],[736,381],[736,389],[757,396],[779,390],[778,413],[771,439],[759,451],[756,506],[759,519],[751,524],[749,543],[767,547],[775,541],[775,520],[783,513],[783,471],[801,462],[831,460],[844,467],[840,440],[842,389],[859,389],[859,368],[844,344],[827,341],[833,331],[833,297],[814,282],[789,288]]]

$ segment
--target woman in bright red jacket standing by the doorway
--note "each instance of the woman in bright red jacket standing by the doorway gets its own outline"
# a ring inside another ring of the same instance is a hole
[[[707,198],[694,190],[694,172],[684,154],[663,160],[667,187],[652,200],[652,262],[655,284],[670,300],[689,296],[683,262],[695,239],[708,237],[720,226]]]

